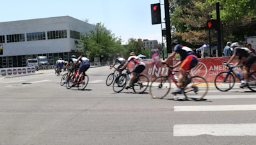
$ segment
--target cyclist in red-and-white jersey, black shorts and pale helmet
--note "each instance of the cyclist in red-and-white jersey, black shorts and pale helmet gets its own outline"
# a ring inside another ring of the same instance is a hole
[[[134,74],[140,74],[146,68],[145,63],[140,59],[140,57],[136,57],[135,53],[131,52],[130,57],[127,59],[127,62],[125,62],[124,66],[122,66],[122,68],[120,70],[125,69],[128,66],[129,62],[134,63],[134,68],[131,73],[129,86],[127,86],[126,89],[132,87],[132,83],[134,81]]]

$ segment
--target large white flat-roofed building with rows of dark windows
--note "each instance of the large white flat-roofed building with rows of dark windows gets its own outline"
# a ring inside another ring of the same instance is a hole
[[[59,57],[67,60],[76,50],[79,34],[95,27],[69,16],[1,22],[0,67],[26,66],[27,59],[37,56],[47,56],[50,64]]]

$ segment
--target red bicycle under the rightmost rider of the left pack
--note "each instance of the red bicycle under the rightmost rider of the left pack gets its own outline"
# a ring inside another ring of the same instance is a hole
[[[89,77],[87,76],[87,74],[82,73],[82,76],[78,78],[76,82],[77,74],[78,74],[78,70],[72,76],[70,76],[70,79],[68,80],[68,83],[67,83],[67,89],[70,89],[72,87],[77,87],[78,90],[84,90],[84,88],[88,85]],[[74,85],[75,82],[76,84]]]

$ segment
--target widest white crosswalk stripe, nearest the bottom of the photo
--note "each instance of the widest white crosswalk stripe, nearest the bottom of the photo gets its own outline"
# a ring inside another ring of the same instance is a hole
[[[200,124],[200,125],[174,125],[173,136],[244,136],[256,135],[256,124]]]

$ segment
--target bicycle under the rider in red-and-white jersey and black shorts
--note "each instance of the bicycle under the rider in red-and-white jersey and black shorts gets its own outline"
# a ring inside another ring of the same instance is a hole
[[[124,90],[127,81],[129,81],[130,79],[130,74],[132,72],[130,72],[128,69],[125,69],[126,72],[124,74],[120,74],[120,76],[118,76],[116,78],[116,80],[113,83],[113,90],[116,93],[121,92],[122,90]],[[134,91],[134,93],[143,93],[145,92],[145,90],[147,90],[148,88],[148,82],[149,79],[145,74],[135,74],[135,79],[132,82],[132,90]],[[120,89],[120,90],[118,90]]]

